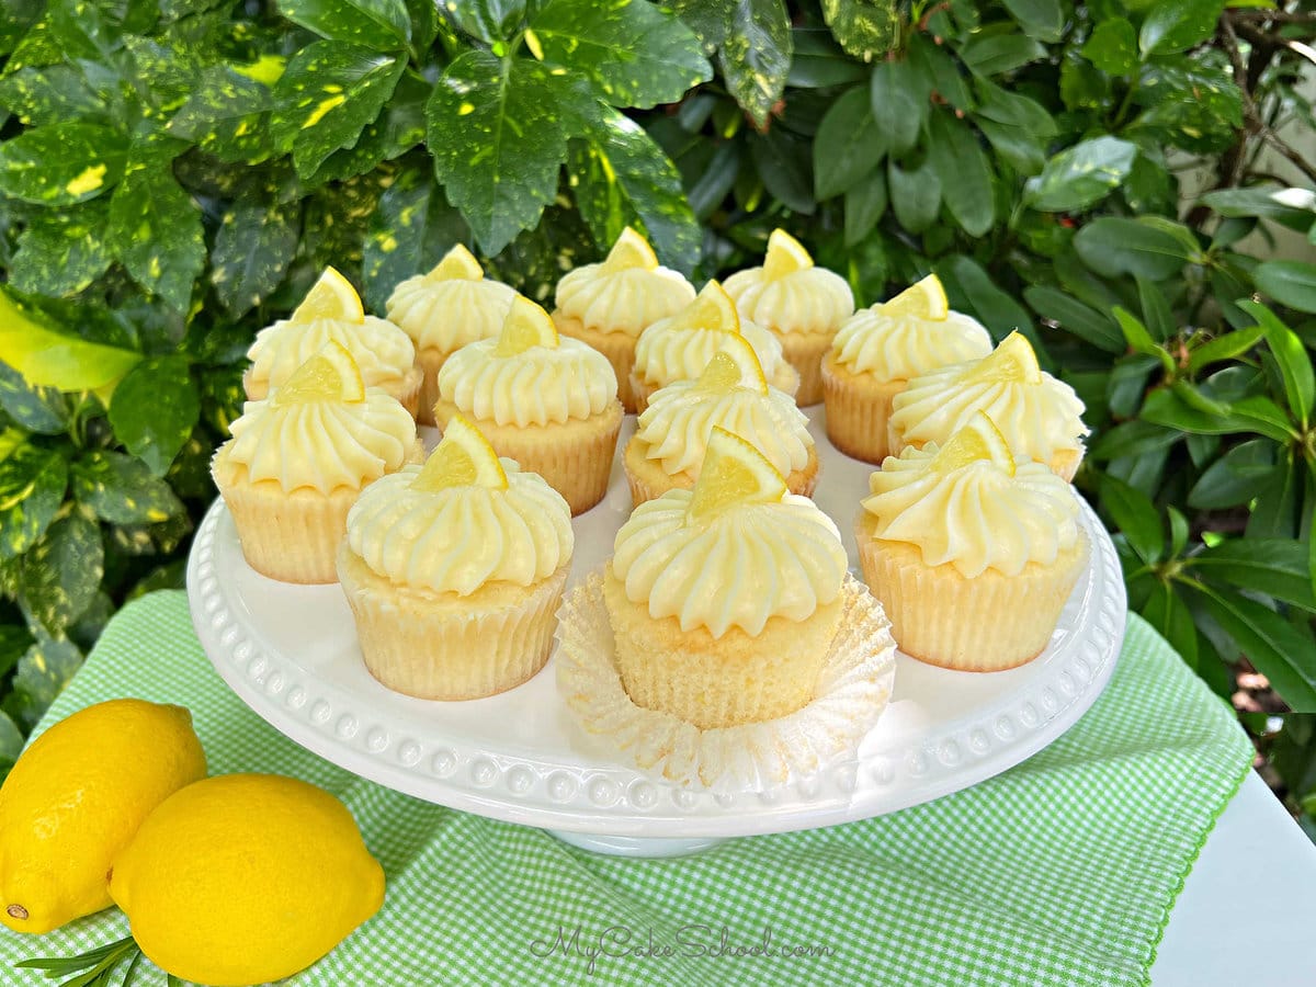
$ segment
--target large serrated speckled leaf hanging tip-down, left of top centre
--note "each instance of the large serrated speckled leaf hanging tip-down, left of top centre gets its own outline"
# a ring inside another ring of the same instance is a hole
[[[447,66],[425,108],[434,174],[488,254],[534,226],[557,195],[570,134],[554,82],[570,86],[524,59],[507,67],[487,51],[467,51]]]

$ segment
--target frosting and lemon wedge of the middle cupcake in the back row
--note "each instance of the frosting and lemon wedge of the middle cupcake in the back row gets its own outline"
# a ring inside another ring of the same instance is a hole
[[[646,326],[675,315],[695,297],[680,271],[662,267],[653,247],[629,226],[603,263],[584,265],[558,282],[554,315],[578,318],[586,329],[638,337]]]

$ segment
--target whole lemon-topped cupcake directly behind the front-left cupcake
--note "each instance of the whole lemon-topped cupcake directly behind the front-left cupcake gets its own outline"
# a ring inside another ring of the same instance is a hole
[[[471,418],[499,455],[544,476],[579,515],[603,500],[621,429],[617,378],[601,353],[562,338],[517,296],[496,340],[463,346],[438,371],[434,422]]]

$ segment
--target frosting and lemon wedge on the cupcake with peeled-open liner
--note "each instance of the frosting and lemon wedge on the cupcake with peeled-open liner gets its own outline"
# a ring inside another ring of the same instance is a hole
[[[754,446],[722,429],[692,491],[671,490],[630,515],[612,571],[626,597],[682,630],[733,626],[750,636],[770,617],[807,620],[841,592],[845,546],[836,524]]]

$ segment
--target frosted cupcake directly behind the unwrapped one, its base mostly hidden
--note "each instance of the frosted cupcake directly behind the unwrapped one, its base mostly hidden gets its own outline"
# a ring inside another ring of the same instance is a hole
[[[725,337],[697,379],[655,391],[636,422],[622,458],[636,505],[674,487],[692,488],[715,428],[758,449],[792,494],[813,492],[819,458],[808,418],[788,393],[763,379],[744,337]]]

